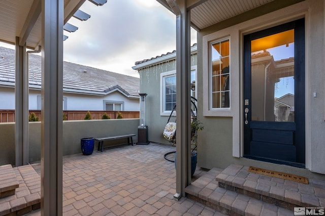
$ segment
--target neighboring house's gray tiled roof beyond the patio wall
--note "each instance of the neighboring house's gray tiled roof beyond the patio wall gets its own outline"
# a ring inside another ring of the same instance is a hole
[[[15,84],[15,51],[0,47],[0,84]],[[29,54],[29,88],[41,88],[41,56]],[[118,91],[139,98],[140,79],[84,65],[63,62],[63,91],[107,95]]]

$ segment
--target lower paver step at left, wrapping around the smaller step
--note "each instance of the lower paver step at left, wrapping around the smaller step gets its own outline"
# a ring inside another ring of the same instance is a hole
[[[0,199],[0,216],[23,215],[41,207],[41,178],[31,165],[13,168],[19,188],[14,195]]]

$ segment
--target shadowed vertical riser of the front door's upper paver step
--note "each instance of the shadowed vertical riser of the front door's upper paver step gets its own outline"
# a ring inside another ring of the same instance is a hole
[[[293,203],[290,203],[290,202],[285,202],[285,201],[282,201],[282,200],[279,200],[279,199],[276,199],[276,198],[272,198],[270,196],[254,193],[254,192],[251,192],[251,191],[247,191],[247,190],[244,190],[242,188],[237,188],[237,187],[227,185],[227,184],[224,184],[224,183],[221,183],[221,182],[218,183],[218,186],[220,188],[230,190],[230,191],[235,191],[236,193],[243,194],[245,196],[249,196],[249,197],[252,197],[252,198],[257,199],[257,200],[262,200],[264,202],[267,202],[267,203],[270,203],[270,204],[273,204],[273,205],[276,205],[276,206],[280,206],[280,207],[286,208],[288,210],[292,210],[292,209],[294,209],[294,207],[302,207],[300,205],[296,205],[296,204],[293,204]],[[310,205],[310,206],[305,206],[305,207],[316,207],[316,206],[311,206]]]

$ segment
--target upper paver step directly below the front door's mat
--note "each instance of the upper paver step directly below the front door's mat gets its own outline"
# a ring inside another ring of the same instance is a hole
[[[325,182],[309,184],[247,171],[247,166],[230,165],[217,175],[218,186],[287,209],[325,206]]]

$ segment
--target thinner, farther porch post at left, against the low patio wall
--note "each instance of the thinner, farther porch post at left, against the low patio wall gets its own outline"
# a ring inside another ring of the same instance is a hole
[[[28,130],[28,74],[26,73],[26,46],[19,46],[16,37],[15,78],[15,157],[16,166],[29,162]]]

